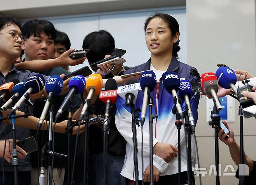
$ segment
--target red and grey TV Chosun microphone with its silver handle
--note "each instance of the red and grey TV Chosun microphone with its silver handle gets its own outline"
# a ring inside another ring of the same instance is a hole
[[[220,111],[222,109],[221,103],[216,94],[218,92],[217,76],[214,73],[203,73],[201,76],[201,86],[207,95],[212,96],[217,110]]]

